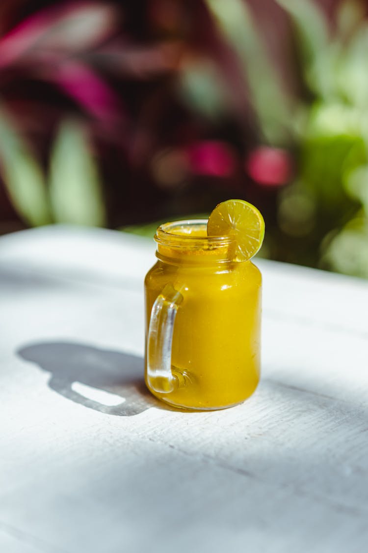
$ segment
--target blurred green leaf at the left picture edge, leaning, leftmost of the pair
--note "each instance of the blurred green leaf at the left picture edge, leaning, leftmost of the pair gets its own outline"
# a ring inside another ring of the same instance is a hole
[[[10,200],[31,226],[51,222],[44,174],[9,115],[0,109],[0,165]]]

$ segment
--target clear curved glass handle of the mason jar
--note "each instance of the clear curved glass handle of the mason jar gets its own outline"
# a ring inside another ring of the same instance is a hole
[[[171,370],[174,322],[183,301],[180,291],[167,284],[152,306],[147,336],[147,380],[155,392],[168,394],[177,379]]]

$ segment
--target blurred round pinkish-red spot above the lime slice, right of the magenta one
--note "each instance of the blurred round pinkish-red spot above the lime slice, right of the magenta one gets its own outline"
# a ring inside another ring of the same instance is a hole
[[[258,184],[280,186],[289,182],[291,178],[291,157],[280,148],[263,146],[249,154],[246,171]]]

